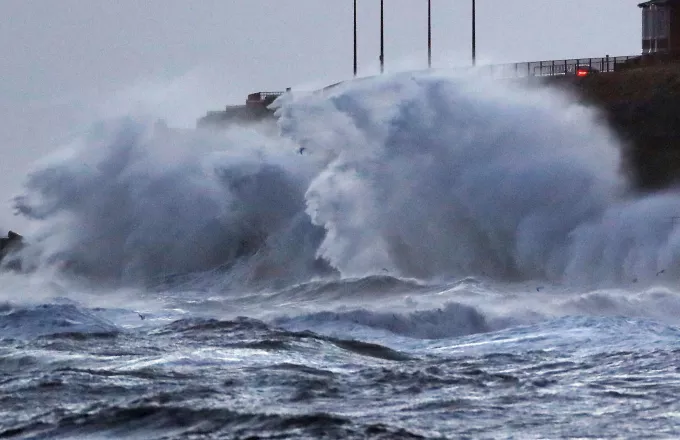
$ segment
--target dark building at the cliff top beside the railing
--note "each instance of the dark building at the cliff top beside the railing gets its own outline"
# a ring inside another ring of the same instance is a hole
[[[680,53],[680,0],[650,0],[642,9],[642,53]]]

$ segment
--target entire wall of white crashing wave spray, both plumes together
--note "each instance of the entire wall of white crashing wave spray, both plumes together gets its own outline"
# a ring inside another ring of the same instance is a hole
[[[398,74],[276,105],[278,135],[95,127],[17,198],[33,260],[128,281],[680,275],[680,197],[629,195],[615,137],[566,94]]]

